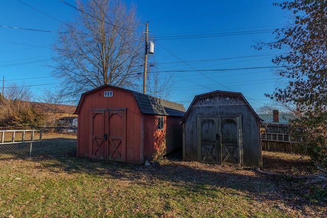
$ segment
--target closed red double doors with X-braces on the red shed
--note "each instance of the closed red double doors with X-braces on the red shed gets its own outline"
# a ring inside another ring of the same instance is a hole
[[[94,109],[90,118],[89,157],[124,162],[126,109]]]

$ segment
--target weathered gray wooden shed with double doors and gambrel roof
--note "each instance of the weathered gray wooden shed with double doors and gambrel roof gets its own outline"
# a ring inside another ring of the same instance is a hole
[[[242,93],[196,95],[183,119],[183,160],[262,166],[261,119]]]

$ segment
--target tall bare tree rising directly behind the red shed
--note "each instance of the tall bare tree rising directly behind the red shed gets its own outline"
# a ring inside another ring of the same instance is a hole
[[[135,8],[119,0],[77,1],[75,20],[61,26],[54,44],[53,74],[71,96],[110,84],[134,88],[143,65]]]

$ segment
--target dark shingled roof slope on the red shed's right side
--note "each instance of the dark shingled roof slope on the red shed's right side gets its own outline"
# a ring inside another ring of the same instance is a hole
[[[185,114],[185,108],[182,104],[158,99],[135,91],[133,91],[133,95],[142,113],[181,117]]]

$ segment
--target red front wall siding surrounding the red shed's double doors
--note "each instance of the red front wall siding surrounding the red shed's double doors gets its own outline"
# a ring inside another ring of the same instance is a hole
[[[104,97],[104,91],[113,91],[112,97]],[[94,92],[87,93],[80,102],[79,125],[78,125],[78,146],[77,154],[81,157],[90,157],[89,143],[91,140],[90,109],[115,109],[126,108],[126,149],[125,160],[127,162],[141,163],[140,142],[141,142],[141,118],[142,114],[130,91],[114,87],[104,87]],[[105,122],[108,121],[105,117]],[[113,119],[114,120],[114,119]],[[113,121],[114,122],[114,121]],[[114,128],[114,124],[110,124]]]

